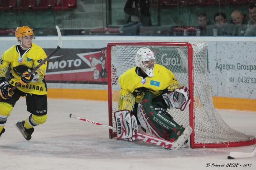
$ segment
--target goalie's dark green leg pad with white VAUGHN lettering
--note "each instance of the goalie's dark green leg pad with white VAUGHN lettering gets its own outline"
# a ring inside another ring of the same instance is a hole
[[[144,129],[158,138],[175,141],[185,130],[176,123],[168,112],[152,104],[151,92],[146,92],[138,105],[137,116]]]

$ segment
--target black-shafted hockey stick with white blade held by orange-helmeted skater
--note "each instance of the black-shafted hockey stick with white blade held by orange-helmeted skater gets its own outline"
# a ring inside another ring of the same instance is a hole
[[[44,60],[42,60],[42,62],[40,64],[37,65],[37,67],[35,67],[32,71],[29,72],[29,74],[26,75],[26,77],[29,77],[31,74],[33,74],[35,71],[37,71],[37,69],[39,67],[41,67],[49,58],[51,58],[58,50],[61,49],[61,45],[62,45],[62,40],[61,40],[61,33],[60,33],[60,28],[56,25],[56,29],[57,29],[57,33],[58,33],[58,38],[59,38],[59,42],[58,42],[58,46],[57,48],[52,52],[52,54],[50,54],[47,58],[45,58]],[[11,88],[11,90],[9,91],[9,93],[12,93],[12,91],[17,88],[20,85],[20,82],[16,83],[14,87]]]

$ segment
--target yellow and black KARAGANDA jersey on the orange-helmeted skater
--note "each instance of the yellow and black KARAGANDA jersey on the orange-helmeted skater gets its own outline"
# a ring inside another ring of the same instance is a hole
[[[18,45],[12,46],[5,51],[0,60],[0,77],[5,77],[8,67],[10,66],[11,78],[9,84],[14,86],[19,82],[23,72],[33,70],[40,64],[47,55],[45,51],[37,44],[32,43],[31,47],[21,55],[18,50]],[[47,62],[42,64],[36,71],[40,76],[41,81],[30,82],[26,85],[20,85],[17,88],[25,93],[44,95],[47,94],[47,86],[44,79]],[[39,80],[40,80],[39,78]]]

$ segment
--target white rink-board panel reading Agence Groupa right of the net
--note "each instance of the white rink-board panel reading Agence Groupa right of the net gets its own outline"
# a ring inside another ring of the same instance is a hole
[[[208,51],[212,95],[256,99],[255,42],[212,42]]]

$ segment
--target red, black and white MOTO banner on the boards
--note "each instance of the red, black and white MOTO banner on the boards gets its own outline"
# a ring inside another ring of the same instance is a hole
[[[61,49],[48,60],[47,83],[108,84],[106,61],[106,48]]]

